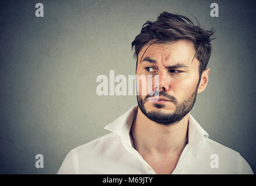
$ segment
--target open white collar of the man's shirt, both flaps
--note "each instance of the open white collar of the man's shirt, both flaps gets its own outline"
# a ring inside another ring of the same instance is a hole
[[[126,113],[118,117],[112,123],[104,127],[106,130],[119,135],[124,145],[131,147],[131,140],[129,138],[129,132],[131,130],[132,121],[134,120],[135,113],[138,110],[138,105],[132,106]],[[209,134],[206,133],[199,123],[190,115],[188,125],[188,144],[199,148],[202,145],[202,141],[207,139]]]

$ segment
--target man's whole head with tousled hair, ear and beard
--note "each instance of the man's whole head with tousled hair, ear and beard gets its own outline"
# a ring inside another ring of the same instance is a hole
[[[153,83],[152,90],[159,92],[160,101],[155,100],[152,92],[142,95],[141,83],[137,81],[138,105],[150,120],[173,124],[191,111],[197,93],[204,91],[208,83],[206,66],[212,35],[212,30],[202,30],[187,17],[167,12],[156,22],[143,24],[132,48],[135,47],[136,75],[152,75],[152,79],[147,78],[152,82],[159,78],[159,85]]]

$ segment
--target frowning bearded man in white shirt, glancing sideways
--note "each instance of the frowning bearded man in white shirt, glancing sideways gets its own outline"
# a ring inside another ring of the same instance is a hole
[[[136,75],[152,92],[105,128],[111,133],[68,153],[58,174],[253,174],[236,151],[208,138],[190,115],[205,90],[213,31],[163,12],[132,42]],[[152,78],[149,78],[150,76]]]

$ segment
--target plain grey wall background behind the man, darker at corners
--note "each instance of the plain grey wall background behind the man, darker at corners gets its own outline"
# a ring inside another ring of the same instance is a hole
[[[44,5],[44,17],[34,15]],[[210,4],[219,4],[219,17]],[[131,42],[164,10],[214,27],[209,84],[192,115],[256,172],[255,1],[1,1],[0,173],[55,174],[135,96],[98,96],[96,77],[135,74]],[[36,169],[36,154],[44,169]]]

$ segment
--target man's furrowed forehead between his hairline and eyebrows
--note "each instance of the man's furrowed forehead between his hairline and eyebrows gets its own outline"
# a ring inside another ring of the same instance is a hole
[[[149,45],[145,45],[139,52],[138,62],[141,63],[143,59],[150,57],[157,62],[162,62],[163,65],[175,65],[176,63],[192,65],[191,62],[194,56],[194,44],[187,40],[178,40],[166,44],[152,44],[150,47]],[[194,60],[197,59],[194,58]]]

